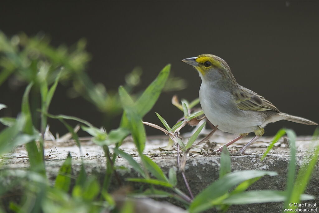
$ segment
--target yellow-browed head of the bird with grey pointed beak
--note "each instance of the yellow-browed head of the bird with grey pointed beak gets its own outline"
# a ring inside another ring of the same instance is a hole
[[[220,57],[211,54],[202,54],[197,57],[185,58],[182,62],[195,67],[203,81],[226,80],[229,81],[229,83],[236,82],[226,61]]]

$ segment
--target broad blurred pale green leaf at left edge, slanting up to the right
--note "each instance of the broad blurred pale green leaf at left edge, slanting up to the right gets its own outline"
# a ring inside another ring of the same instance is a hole
[[[0,132],[0,155],[10,152],[19,142],[26,142],[14,140],[17,138],[19,132],[23,130],[25,123],[26,118],[24,116],[18,116],[12,126],[6,127]]]

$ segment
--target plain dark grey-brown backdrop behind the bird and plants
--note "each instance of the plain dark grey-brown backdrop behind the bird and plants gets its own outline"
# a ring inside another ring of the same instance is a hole
[[[53,45],[88,41],[92,55],[87,72],[94,82],[117,90],[124,75],[143,68],[145,88],[167,63],[175,76],[188,81],[182,91],[164,93],[144,120],[159,124],[155,111],[173,124],[181,113],[171,97],[198,97],[198,73],[181,62],[211,53],[226,60],[239,84],[263,95],[279,110],[319,122],[318,114],[318,1],[1,1],[0,29],[11,36],[44,32]],[[0,87],[0,103],[9,109],[0,116],[16,116],[24,88]],[[52,114],[73,115],[101,125],[101,115],[82,98],[69,99],[59,86]],[[137,89],[137,90],[138,90]],[[51,130],[64,127],[49,120]],[[118,125],[115,120],[113,127]],[[280,121],[297,134],[312,134],[315,126]],[[149,134],[160,134],[146,127]]]

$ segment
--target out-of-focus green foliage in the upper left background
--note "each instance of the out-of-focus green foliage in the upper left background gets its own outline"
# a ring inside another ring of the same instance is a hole
[[[104,115],[103,126],[109,129],[112,119],[122,113],[121,102],[117,91],[107,91],[101,83],[94,84],[86,74],[85,68],[91,56],[85,47],[85,39],[80,39],[71,47],[60,45],[55,48],[50,45],[50,39],[41,33],[34,37],[21,33],[8,38],[0,31],[0,86],[5,80],[9,80],[12,89],[33,82],[33,90],[39,90],[44,78],[50,85],[61,71],[59,81],[62,84],[71,81],[73,85],[67,90],[68,96],[75,98],[81,95],[93,103]],[[140,67],[125,75],[123,87],[127,92],[133,93],[134,88],[140,85],[141,75]],[[177,91],[186,87],[184,79],[171,75],[163,91]],[[135,92],[132,98],[136,99],[140,94]],[[31,101],[31,105],[36,104],[35,100]]]

